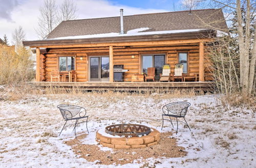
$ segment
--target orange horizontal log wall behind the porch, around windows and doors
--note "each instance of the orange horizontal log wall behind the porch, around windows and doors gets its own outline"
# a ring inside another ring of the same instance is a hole
[[[132,46],[132,47],[114,47],[114,65],[123,64],[124,81],[131,81],[133,74],[139,73],[140,53],[167,53],[167,64],[170,64],[174,73],[174,66],[177,64],[177,52],[189,51],[189,72],[199,73],[199,44],[180,45],[180,46]],[[46,80],[50,81],[50,72],[57,69],[57,54],[76,54],[77,81],[88,81],[88,56],[90,55],[108,55],[109,49],[106,47],[93,48],[51,48],[46,54]],[[134,58],[132,58],[134,55]],[[82,58],[82,60],[80,60]],[[207,68],[205,68],[206,71]]]

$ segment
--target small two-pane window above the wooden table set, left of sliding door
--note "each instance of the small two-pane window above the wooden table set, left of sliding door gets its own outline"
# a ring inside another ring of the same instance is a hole
[[[59,71],[71,71],[75,69],[75,57],[59,57]]]

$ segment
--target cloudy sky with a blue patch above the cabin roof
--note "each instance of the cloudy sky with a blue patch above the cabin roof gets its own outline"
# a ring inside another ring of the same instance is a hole
[[[77,4],[77,19],[119,16],[119,9],[124,9],[124,15],[142,13],[156,13],[173,11],[174,5],[184,0],[73,0]],[[56,0],[61,5],[63,0]],[[12,32],[22,26],[26,33],[26,40],[37,40],[36,27],[38,25],[39,7],[44,0],[0,0],[0,38],[6,34],[9,44]]]

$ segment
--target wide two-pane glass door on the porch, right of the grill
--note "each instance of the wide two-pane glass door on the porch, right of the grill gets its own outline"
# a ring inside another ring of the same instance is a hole
[[[159,80],[160,73],[162,73],[163,65],[165,64],[165,55],[142,55],[142,71],[147,73],[147,68],[156,68],[156,80]]]

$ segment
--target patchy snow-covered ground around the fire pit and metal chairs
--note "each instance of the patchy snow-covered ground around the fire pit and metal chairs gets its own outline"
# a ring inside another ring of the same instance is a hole
[[[0,167],[115,167],[79,158],[70,146],[63,143],[74,138],[74,132],[69,127],[58,136],[64,121],[56,106],[65,103],[85,107],[89,115],[90,134],[83,143],[96,144],[96,131],[110,124],[137,123],[161,130],[161,107],[175,101],[191,103],[186,116],[191,132],[179,123],[178,134],[173,135],[178,138],[178,145],[184,147],[188,154],[182,158],[149,158],[145,161],[148,165],[256,166],[256,122],[252,109],[222,106],[218,95],[163,99],[161,97],[157,94],[146,97],[88,93],[24,95],[22,99],[15,101],[0,98]],[[176,130],[176,123],[174,129],[167,121],[164,126],[163,131]],[[81,124],[77,132],[86,132],[85,125]],[[110,149],[104,147],[101,150]],[[140,166],[142,163],[122,165]]]

